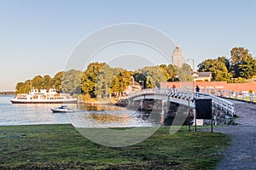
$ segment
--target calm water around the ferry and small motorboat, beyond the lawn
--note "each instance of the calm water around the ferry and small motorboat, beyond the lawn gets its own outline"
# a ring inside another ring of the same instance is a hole
[[[164,121],[161,111],[142,114],[117,106],[68,105],[73,113],[52,113],[58,104],[11,104],[14,96],[0,96],[0,126],[72,123],[75,127],[154,127]]]

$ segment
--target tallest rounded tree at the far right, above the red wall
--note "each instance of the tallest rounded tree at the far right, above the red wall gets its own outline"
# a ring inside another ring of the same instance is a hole
[[[232,48],[230,65],[233,77],[251,78],[256,75],[256,61],[246,48]]]

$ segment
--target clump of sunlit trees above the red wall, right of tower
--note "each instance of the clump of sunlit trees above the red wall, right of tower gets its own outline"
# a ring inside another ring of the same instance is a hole
[[[256,76],[256,60],[247,48],[241,47],[231,49],[230,59],[206,59],[197,67],[198,71],[211,71],[212,81],[244,82]]]

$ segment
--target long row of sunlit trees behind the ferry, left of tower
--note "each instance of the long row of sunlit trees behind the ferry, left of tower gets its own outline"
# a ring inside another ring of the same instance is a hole
[[[189,65],[182,68],[176,65],[146,66],[137,71],[112,68],[106,63],[90,63],[85,71],[60,71],[54,77],[36,76],[32,80],[18,82],[16,94],[27,94],[31,88],[55,88],[60,93],[90,94],[90,96],[120,95],[131,85],[131,79],[139,82],[143,88],[160,87],[160,82],[191,81]]]

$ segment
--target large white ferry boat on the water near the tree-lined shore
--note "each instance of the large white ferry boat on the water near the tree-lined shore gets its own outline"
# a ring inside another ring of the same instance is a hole
[[[17,94],[15,98],[10,99],[13,104],[71,104],[77,103],[77,99],[73,99],[68,94],[58,94],[55,88],[32,89],[29,94]]]

